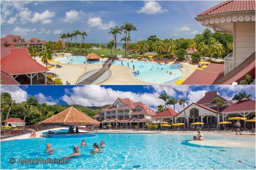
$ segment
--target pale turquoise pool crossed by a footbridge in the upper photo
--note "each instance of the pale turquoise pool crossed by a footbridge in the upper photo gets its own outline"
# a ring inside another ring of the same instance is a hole
[[[103,62],[99,61],[87,61],[84,56],[60,57],[56,58],[55,61],[60,61],[60,63],[64,64],[83,64],[84,62],[89,64],[103,64]],[[135,72],[132,72],[134,77],[141,81],[154,84],[169,84],[180,79],[182,75],[182,70],[171,68],[169,65],[165,64],[127,61],[114,61],[113,64],[130,67],[135,70]]]

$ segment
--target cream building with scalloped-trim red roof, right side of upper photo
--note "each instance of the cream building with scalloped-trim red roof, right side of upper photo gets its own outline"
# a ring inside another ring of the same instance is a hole
[[[255,1],[225,1],[195,19],[215,32],[232,34],[233,53],[224,58],[223,66],[195,70],[182,84],[239,83],[246,74],[255,79]]]

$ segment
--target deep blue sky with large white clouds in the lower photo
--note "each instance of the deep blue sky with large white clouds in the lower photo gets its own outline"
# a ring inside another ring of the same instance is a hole
[[[103,106],[113,104],[119,98],[130,98],[141,101],[155,109],[157,105],[164,105],[158,96],[165,91],[170,97],[185,98],[188,105],[201,99],[205,92],[217,90],[218,94],[231,100],[235,94],[245,91],[255,98],[255,86],[1,86],[2,92],[10,92],[16,103],[26,101],[29,96],[34,96],[39,103],[54,104],[79,104],[83,106]],[[172,106],[170,106],[172,108]],[[182,106],[175,107],[181,111]]]

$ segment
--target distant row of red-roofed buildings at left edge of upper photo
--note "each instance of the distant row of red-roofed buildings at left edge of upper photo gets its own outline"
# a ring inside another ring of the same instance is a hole
[[[37,46],[39,50],[44,48],[45,40],[39,40],[37,38],[30,38],[25,41],[19,35],[7,35],[1,38],[1,48],[4,47],[15,47],[15,48],[28,48],[31,46]]]

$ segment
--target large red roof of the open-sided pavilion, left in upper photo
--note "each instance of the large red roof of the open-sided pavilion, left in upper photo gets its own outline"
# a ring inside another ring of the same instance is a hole
[[[1,70],[10,75],[49,71],[34,61],[26,48],[10,49],[10,54],[1,59]]]

